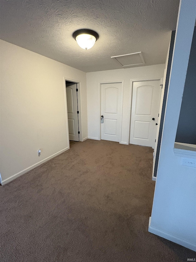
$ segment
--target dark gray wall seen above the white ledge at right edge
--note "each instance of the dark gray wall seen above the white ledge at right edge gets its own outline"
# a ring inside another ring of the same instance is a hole
[[[196,144],[196,27],[190,50],[176,142]]]

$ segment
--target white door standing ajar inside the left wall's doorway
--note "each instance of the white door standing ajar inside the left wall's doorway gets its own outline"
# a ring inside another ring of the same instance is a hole
[[[73,141],[79,141],[76,88],[76,83],[66,83],[69,138]]]

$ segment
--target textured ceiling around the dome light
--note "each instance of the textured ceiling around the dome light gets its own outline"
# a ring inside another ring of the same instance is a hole
[[[165,63],[179,0],[1,0],[0,38],[85,72],[118,69],[111,56],[142,52],[145,65]],[[72,37],[99,34],[92,49]]]

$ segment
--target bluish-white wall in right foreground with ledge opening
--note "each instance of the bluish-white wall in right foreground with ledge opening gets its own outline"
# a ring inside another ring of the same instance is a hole
[[[180,1],[149,232],[196,251],[196,168],[175,153],[182,94],[196,17],[196,1]],[[182,152],[183,153],[183,152]]]

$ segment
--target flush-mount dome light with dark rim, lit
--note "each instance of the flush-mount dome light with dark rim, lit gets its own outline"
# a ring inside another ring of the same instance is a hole
[[[93,47],[99,35],[90,29],[80,29],[73,33],[73,37],[81,48],[87,50]]]

